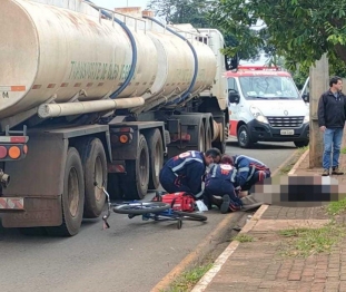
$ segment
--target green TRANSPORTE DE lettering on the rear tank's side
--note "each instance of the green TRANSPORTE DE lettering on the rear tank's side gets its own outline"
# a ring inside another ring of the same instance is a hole
[[[125,80],[131,69],[131,65],[118,65],[107,62],[71,61],[70,80]]]

